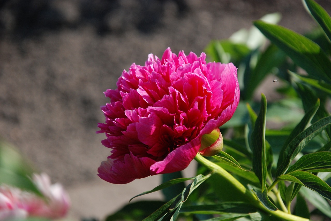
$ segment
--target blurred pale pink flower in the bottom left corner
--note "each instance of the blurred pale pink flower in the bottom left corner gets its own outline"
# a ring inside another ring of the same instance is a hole
[[[60,184],[51,184],[45,173],[34,174],[33,181],[45,199],[18,188],[0,186],[0,221],[29,216],[56,219],[67,214],[70,198]]]

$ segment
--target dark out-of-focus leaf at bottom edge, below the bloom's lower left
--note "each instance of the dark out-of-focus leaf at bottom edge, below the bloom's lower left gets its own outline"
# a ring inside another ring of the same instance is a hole
[[[105,221],[115,220],[143,220],[149,214],[164,204],[163,201],[139,201],[125,205],[114,214],[108,216]]]

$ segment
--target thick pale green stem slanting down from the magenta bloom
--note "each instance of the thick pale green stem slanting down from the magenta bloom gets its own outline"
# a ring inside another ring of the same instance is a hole
[[[217,164],[214,164],[213,162],[207,160],[200,154],[197,154],[197,156],[194,159],[197,162],[199,162],[201,165],[207,167],[214,173],[220,175],[223,179],[226,179],[227,181],[232,183],[234,189],[236,189],[239,193],[241,193],[243,195],[243,197],[246,198],[250,203],[252,203],[257,208],[263,210],[264,212],[267,212],[273,216],[276,216],[276,217],[281,218],[282,220],[286,220],[286,221],[309,221],[309,219],[305,219],[300,216],[288,214],[279,209],[276,211],[268,210],[259,202],[259,200],[255,197],[255,195],[250,190],[248,190],[243,184],[241,184],[236,178],[234,178],[225,169],[223,169],[222,167],[218,166]]]

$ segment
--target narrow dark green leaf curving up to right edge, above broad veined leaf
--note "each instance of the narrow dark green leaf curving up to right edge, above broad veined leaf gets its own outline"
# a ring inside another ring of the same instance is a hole
[[[302,151],[309,141],[330,126],[331,117],[325,117],[297,135],[279,155],[278,168],[276,175],[279,176],[285,172],[292,160]]]

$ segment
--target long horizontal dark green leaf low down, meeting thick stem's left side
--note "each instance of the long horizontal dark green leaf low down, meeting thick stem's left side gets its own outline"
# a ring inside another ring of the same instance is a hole
[[[257,212],[257,209],[248,203],[226,202],[217,204],[183,206],[180,212],[198,214],[254,213]]]

